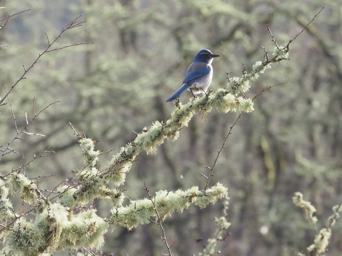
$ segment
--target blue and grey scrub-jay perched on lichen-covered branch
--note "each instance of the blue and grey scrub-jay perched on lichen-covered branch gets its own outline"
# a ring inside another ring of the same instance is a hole
[[[199,51],[196,54],[193,63],[190,64],[186,71],[182,87],[176,90],[166,102],[177,99],[185,90],[191,91],[194,96],[199,93],[207,94],[207,89],[213,77],[211,62],[213,61],[213,58],[220,56],[221,55],[213,54],[207,49]]]

